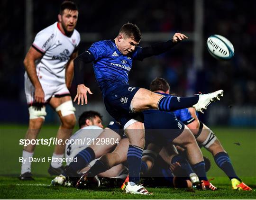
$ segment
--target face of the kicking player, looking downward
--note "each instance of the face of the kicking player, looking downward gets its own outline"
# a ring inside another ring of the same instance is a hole
[[[135,47],[138,44],[139,43],[131,37],[119,36],[118,50],[121,52],[122,55],[128,55],[135,50]]]

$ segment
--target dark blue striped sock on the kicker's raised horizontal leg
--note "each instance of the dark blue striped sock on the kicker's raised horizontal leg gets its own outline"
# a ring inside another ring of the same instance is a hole
[[[174,97],[164,96],[158,101],[157,107],[161,111],[174,111],[177,109],[190,108],[196,104],[199,100],[199,96],[195,97]]]

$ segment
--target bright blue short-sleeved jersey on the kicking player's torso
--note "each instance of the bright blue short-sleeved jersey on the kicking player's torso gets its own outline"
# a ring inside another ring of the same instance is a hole
[[[88,49],[94,56],[93,70],[96,81],[102,92],[116,85],[128,85],[128,75],[132,68],[132,61],[141,52],[141,47],[129,55],[122,55],[114,40],[103,40],[93,43]]]

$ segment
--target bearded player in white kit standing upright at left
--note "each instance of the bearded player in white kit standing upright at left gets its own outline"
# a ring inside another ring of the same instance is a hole
[[[60,7],[58,22],[37,33],[27,52],[24,65],[29,127],[25,139],[37,138],[45,120],[46,103],[56,110],[61,120],[57,138],[64,141],[72,134],[76,119],[68,88],[72,83],[73,60],[78,55],[80,42],[80,35],[74,29],[77,19],[76,4],[64,1]],[[23,158],[32,157],[34,149],[35,145],[24,146]],[[65,145],[55,145],[53,157],[62,158],[64,151]],[[63,167],[53,160],[48,172],[58,175],[63,172]],[[20,179],[33,180],[31,163],[22,163]]]

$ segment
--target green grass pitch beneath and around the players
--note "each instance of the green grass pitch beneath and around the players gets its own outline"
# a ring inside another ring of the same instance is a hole
[[[51,186],[53,177],[47,173],[50,164],[47,162],[32,164],[35,181],[18,180],[21,166],[18,158],[22,155],[19,139],[23,139],[26,129],[26,126],[0,125],[0,199],[256,199],[256,129],[212,129],[229,153],[236,172],[253,191],[232,191],[229,179],[203,149],[203,154],[211,160],[208,176],[215,178],[212,183],[218,191],[147,188],[154,192],[153,196],[125,194],[118,188],[77,191],[72,187]],[[55,137],[56,129],[45,126],[38,138]],[[53,145],[37,145],[34,157],[51,156],[53,149]]]

